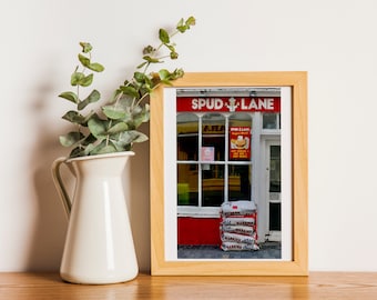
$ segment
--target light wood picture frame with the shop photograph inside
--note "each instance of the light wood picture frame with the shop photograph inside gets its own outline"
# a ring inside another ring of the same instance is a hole
[[[185,73],[151,98],[152,276],[307,276],[307,73]]]

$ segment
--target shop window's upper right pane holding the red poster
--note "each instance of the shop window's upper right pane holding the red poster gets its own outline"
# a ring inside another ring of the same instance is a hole
[[[252,159],[252,117],[235,113],[230,117],[230,160]]]

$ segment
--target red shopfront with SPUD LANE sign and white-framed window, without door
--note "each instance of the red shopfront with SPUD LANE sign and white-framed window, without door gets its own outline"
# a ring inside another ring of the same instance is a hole
[[[176,97],[177,243],[186,246],[221,243],[223,202],[258,202],[263,178],[254,161],[261,154],[255,153],[263,151],[263,130],[279,131],[276,91],[202,93],[185,90]]]

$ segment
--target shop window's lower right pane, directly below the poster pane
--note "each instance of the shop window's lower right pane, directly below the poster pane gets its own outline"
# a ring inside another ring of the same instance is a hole
[[[252,167],[230,166],[228,193],[231,201],[252,199]]]

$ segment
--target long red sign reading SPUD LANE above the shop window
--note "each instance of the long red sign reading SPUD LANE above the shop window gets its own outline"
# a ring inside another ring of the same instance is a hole
[[[281,97],[179,97],[176,110],[279,112]]]

